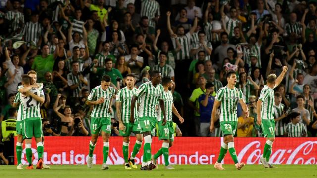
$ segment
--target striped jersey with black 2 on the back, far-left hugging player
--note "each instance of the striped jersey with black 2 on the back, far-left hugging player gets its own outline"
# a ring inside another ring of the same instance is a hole
[[[30,91],[37,96],[44,97],[43,90],[40,90],[38,88],[32,88],[30,89]],[[28,119],[35,117],[41,118],[40,102],[36,101],[31,96],[25,96],[20,92],[18,92],[18,94],[16,95],[14,102],[17,103],[18,100],[20,101],[23,108],[23,112],[21,112],[22,118],[20,119]]]

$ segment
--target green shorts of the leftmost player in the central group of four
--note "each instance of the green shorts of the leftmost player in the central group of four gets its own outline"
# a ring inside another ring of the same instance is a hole
[[[105,133],[111,133],[111,119],[106,117],[96,118],[92,117],[90,119],[90,131],[91,134],[99,135],[100,131]]]

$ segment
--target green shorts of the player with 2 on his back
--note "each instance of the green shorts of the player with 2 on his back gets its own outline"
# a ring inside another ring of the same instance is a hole
[[[31,139],[33,136],[35,138],[42,137],[42,121],[41,118],[26,118],[23,119],[22,135],[23,139]]]

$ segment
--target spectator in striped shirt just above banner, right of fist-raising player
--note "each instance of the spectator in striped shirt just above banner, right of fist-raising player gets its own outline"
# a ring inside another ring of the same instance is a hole
[[[307,137],[306,126],[300,122],[300,113],[293,112],[289,114],[291,120],[286,126],[286,133],[288,137]]]

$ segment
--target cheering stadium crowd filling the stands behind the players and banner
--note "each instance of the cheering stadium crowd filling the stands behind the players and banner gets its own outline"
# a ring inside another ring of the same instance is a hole
[[[117,91],[127,74],[138,87],[159,70],[173,79],[185,120],[175,117],[177,136],[223,136],[219,122],[210,132],[212,106],[235,71],[250,113],[238,104],[236,136],[261,137],[256,101],[282,66],[275,135],[316,137],[316,20],[317,0],[0,0],[0,142],[12,142],[4,123],[17,117],[21,75],[34,71],[44,85],[44,136],[90,135],[87,98],[103,75]],[[112,116],[118,136],[115,101]]]

